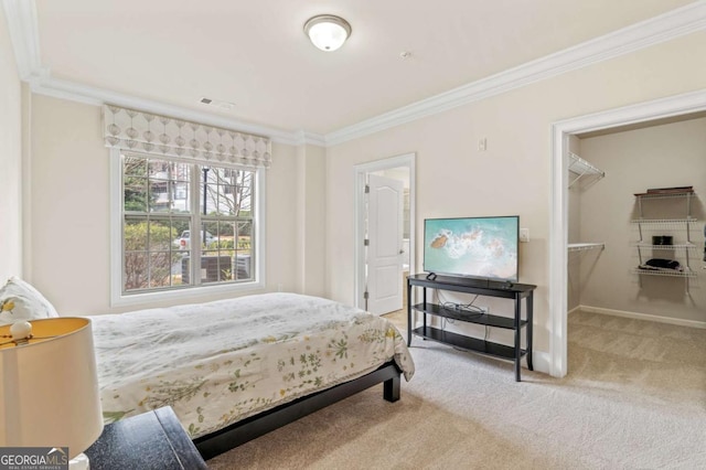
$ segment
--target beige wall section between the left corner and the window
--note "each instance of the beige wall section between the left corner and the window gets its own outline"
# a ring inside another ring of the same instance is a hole
[[[32,99],[26,269],[64,314],[105,309],[109,299],[109,180],[100,122],[99,107]]]

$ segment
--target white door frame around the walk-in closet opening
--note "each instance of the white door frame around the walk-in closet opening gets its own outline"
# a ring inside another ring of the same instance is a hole
[[[638,105],[609,109],[552,125],[552,216],[549,221],[549,374],[568,373],[568,153],[569,137],[657,119],[703,113],[706,88]]]

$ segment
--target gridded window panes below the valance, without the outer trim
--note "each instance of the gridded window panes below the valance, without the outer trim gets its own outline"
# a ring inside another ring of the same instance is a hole
[[[253,288],[261,171],[119,152],[120,296]]]

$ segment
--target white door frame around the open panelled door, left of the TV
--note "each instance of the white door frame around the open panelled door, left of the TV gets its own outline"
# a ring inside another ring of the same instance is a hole
[[[416,153],[404,153],[396,157],[389,157],[382,160],[375,160],[367,163],[361,163],[353,167],[354,184],[355,184],[355,233],[353,236],[354,244],[354,282],[353,298],[355,307],[365,309],[365,249],[363,239],[365,238],[365,181],[367,173],[381,170],[391,170],[393,168],[406,167],[409,170],[409,269],[415,269],[415,239],[416,239],[416,172],[415,172]],[[404,291],[403,291],[404,297]],[[408,300],[409,301],[409,300]]]

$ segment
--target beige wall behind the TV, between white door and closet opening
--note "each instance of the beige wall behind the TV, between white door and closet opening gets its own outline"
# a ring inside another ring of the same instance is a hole
[[[330,296],[353,302],[353,165],[416,152],[418,241],[421,221],[434,216],[518,214],[530,228],[520,278],[538,286],[535,344],[547,352],[550,125],[703,88],[704,44],[706,33],[695,33],[329,149]],[[484,152],[480,138],[488,139]],[[419,244],[416,250],[420,260]]]

